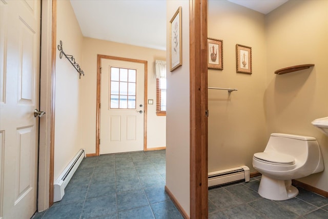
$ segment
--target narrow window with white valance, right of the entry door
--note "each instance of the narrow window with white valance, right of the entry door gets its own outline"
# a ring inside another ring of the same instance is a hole
[[[166,115],[166,61],[155,61],[156,115]]]

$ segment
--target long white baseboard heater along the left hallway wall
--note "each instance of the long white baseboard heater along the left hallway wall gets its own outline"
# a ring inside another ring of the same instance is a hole
[[[59,202],[65,194],[65,188],[70,182],[73,174],[77,167],[82,162],[83,158],[86,157],[84,149],[80,149],[77,154],[73,157],[72,161],[67,165],[64,171],[59,175],[53,185],[53,202]]]

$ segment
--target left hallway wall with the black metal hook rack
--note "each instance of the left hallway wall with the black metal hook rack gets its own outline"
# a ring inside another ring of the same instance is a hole
[[[57,45],[60,40],[63,42],[64,52],[74,55],[76,62],[82,65],[83,36],[69,1],[57,1]],[[79,79],[79,74],[65,56],[60,59],[59,51],[56,50],[55,180],[81,148],[79,145],[81,80],[83,78]]]

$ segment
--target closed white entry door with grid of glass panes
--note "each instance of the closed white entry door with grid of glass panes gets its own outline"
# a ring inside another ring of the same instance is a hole
[[[145,65],[101,59],[100,154],[144,149]]]

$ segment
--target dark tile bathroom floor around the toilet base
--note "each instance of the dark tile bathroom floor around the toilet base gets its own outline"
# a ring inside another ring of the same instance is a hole
[[[260,178],[210,188],[209,218],[328,218],[327,198],[298,188],[299,194],[290,200],[267,200],[257,193]]]

